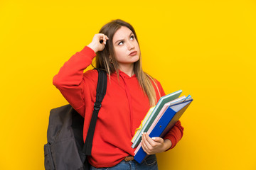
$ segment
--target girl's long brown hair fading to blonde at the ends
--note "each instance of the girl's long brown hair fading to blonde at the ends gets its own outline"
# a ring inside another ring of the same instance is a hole
[[[97,56],[96,56],[96,67],[98,69],[105,69],[109,76],[113,72],[117,72],[118,79],[119,79],[118,62],[114,55],[113,36],[114,36],[114,33],[116,33],[117,30],[119,30],[119,28],[121,28],[122,26],[125,26],[130,30],[132,30],[132,33],[134,33],[134,36],[138,42],[138,38],[134,28],[129,23],[117,19],[117,20],[111,21],[110,23],[107,23],[105,26],[103,26],[100,29],[100,33],[107,35],[109,40],[107,40],[104,50],[97,52]],[[112,57],[111,62],[109,59],[110,56]],[[141,54],[139,54],[139,60],[137,62],[134,62],[134,74],[137,76],[139,85],[142,87],[144,94],[148,96],[150,106],[156,105],[156,102],[157,102],[156,92],[154,90],[153,84],[156,86],[159,96],[160,96],[160,92],[154,79],[149,74],[146,74],[145,72],[143,72]]]

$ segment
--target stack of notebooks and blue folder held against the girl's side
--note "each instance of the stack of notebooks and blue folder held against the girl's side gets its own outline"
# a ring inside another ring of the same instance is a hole
[[[147,132],[149,137],[164,137],[193,101],[190,95],[178,98],[181,92],[179,90],[161,97],[156,106],[150,108],[146,113],[144,120],[142,120],[132,138],[132,148],[137,147],[134,152],[134,159],[137,162],[142,163],[146,158],[146,152],[144,152],[140,144],[142,132]]]

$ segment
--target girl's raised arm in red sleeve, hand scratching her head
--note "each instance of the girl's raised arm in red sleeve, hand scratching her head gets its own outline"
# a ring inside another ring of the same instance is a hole
[[[96,52],[103,50],[107,41],[104,34],[95,34],[92,42],[85,46],[80,52],[65,62],[58,74],[53,77],[53,84],[60,90],[61,94],[82,116],[85,115],[85,94],[87,86],[85,84],[90,77],[84,77],[84,70],[92,63]],[[100,43],[100,40],[103,42]]]

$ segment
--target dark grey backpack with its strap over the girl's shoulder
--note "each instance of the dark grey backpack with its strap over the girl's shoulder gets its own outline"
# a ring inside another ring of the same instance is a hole
[[[96,101],[85,143],[82,137],[84,118],[72,106],[68,104],[50,110],[47,130],[48,143],[44,145],[46,170],[90,169],[86,156],[91,155],[97,115],[107,89],[106,72],[100,69],[97,71],[99,77]]]

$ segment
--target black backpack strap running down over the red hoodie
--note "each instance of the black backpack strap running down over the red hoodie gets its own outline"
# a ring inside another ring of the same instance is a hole
[[[85,153],[86,155],[92,155],[92,139],[93,139],[93,134],[95,132],[97,115],[100,111],[101,103],[106,94],[106,89],[107,89],[107,73],[102,69],[97,69],[97,72],[99,76],[97,81],[96,101],[94,103],[92,119],[90,121],[90,126],[85,139],[85,145],[82,149],[82,152]]]

